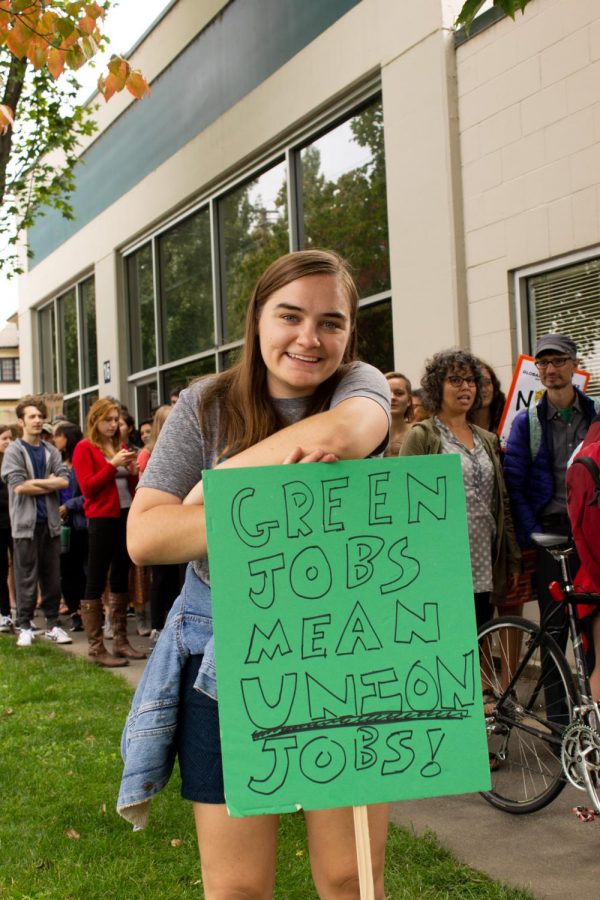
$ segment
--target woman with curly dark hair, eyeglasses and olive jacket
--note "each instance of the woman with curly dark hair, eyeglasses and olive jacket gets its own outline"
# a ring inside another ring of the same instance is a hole
[[[421,379],[432,416],[413,425],[400,450],[400,456],[460,455],[478,627],[492,618],[493,605],[504,602],[508,582],[516,583],[520,569],[498,439],[473,424],[482,381],[479,361],[467,351],[436,353]]]

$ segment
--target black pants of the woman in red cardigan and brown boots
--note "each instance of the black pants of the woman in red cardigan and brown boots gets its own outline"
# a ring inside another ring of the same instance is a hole
[[[112,593],[126,594],[128,591],[131,566],[126,541],[128,512],[128,509],[122,509],[118,519],[88,519],[86,600],[100,600],[109,569]]]

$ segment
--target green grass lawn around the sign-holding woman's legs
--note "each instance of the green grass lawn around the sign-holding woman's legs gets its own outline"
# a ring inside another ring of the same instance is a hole
[[[179,778],[134,833],[117,816],[119,738],[131,689],[56,647],[0,637],[0,897],[134,900],[203,896],[191,805]],[[526,898],[457,863],[434,837],[392,827],[389,900]],[[310,900],[300,815],[282,817],[279,900]]]

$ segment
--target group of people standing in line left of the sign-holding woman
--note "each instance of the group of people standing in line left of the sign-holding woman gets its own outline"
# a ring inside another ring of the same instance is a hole
[[[16,425],[0,426],[0,632],[16,632],[19,647],[42,632],[69,644],[70,633],[85,631],[94,662],[124,666],[146,657],[127,637],[127,616],[136,610],[138,633],[150,636],[151,648],[158,640],[180,570],[133,566],[126,527],[139,472],[171,408],[159,407],[138,430],[118,400],[101,398],[84,436],[62,415],[48,422],[43,398],[27,396]]]

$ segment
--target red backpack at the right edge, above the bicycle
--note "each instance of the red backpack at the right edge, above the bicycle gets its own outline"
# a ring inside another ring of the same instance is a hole
[[[593,589],[600,591],[600,420],[597,418],[567,469],[567,506],[582,568]]]

